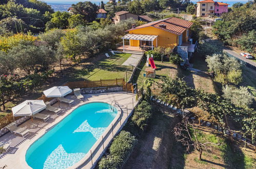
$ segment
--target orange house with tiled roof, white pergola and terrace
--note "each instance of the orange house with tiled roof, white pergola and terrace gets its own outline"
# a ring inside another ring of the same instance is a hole
[[[192,22],[170,17],[156,20],[139,27],[127,30],[128,34],[122,37],[123,42],[116,44],[117,50],[123,52],[143,52],[153,50],[154,47],[165,47],[176,49],[184,62],[188,62],[195,51],[196,44],[192,44],[191,26]]]

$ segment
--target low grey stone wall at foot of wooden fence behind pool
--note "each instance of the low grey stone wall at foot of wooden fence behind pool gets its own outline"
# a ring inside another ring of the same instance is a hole
[[[81,89],[82,94],[94,94],[94,93],[109,93],[109,92],[122,92],[123,87],[98,87],[98,88],[83,88]]]

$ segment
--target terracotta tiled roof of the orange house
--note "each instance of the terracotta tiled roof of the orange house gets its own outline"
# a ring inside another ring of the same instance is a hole
[[[166,25],[166,28],[163,28],[160,25]],[[147,24],[141,25],[139,27],[136,27],[134,29],[140,29],[140,28],[145,28],[145,27],[154,27],[157,29],[162,29],[162,30],[177,34],[177,35],[181,35],[187,28],[190,28],[192,25],[193,25],[193,23],[191,23],[187,20],[170,17],[170,18],[166,18],[166,19],[162,19],[162,20],[156,20],[154,22],[147,23]],[[134,29],[130,29],[130,30],[134,30]],[[127,30],[127,31],[130,31],[130,30]]]

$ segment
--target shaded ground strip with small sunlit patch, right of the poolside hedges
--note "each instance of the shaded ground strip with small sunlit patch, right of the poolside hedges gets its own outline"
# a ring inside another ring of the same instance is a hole
[[[170,135],[172,123],[173,117],[162,113],[159,107],[154,109],[148,128],[141,134],[134,130],[135,124],[128,121],[124,130],[139,141],[123,168],[168,168],[173,143]]]

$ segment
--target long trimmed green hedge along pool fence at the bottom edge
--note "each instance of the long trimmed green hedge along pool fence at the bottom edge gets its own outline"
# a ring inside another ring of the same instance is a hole
[[[100,169],[120,168],[128,159],[137,140],[129,132],[121,131],[110,145],[110,154],[99,162]]]

